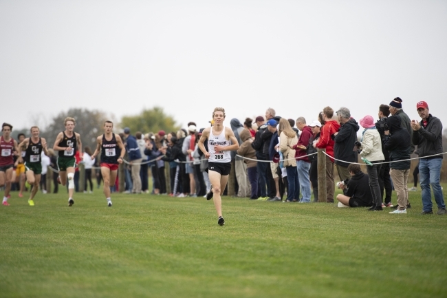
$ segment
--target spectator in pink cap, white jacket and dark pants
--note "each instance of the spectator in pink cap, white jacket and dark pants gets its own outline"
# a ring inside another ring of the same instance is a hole
[[[382,140],[380,134],[375,128],[374,118],[372,116],[364,116],[360,119],[360,125],[364,127],[362,133],[362,142],[360,142],[360,156],[368,160],[371,164],[367,164],[367,173],[369,175],[369,187],[373,195],[373,206],[369,211],[382,211],[382,196],[380,194],[379,174],[380,162],[384,161],[382,153]]]

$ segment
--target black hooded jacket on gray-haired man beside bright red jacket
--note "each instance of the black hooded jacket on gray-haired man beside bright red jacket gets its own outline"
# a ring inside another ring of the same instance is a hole
[[[348,167],[348,162],[357,162],[357,151],[353,151],[354,143],[357,140],[357,131],[359,126],[354,118],[351,118],[347,123],[343,124],[334,141],[334,158],[338,160],[345,160],[347,162],[339,162],[336,160],[336,164],[342,167]]]

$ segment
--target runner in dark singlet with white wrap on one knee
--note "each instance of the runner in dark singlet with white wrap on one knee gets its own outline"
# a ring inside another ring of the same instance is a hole
[[[58,156],[58,169],[59,169],[59,180],[61,184],[65,186],[68,179],[68,206],[74,204],[73,193],[74,193],[74,170],[76,167],[76,159],[74,155],[76,151],[79,150],[80,156],[82,156],[83,144],[80,142],[80,135],[74,132],[74,125],[76,122],[74,118],[67,117],[64,120],[65,131],[61,131],[56,141],[54,142],[53,149],[59,151]]]

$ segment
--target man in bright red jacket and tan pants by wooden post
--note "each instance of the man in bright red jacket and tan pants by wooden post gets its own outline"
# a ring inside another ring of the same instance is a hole
[[[334,109],[325,107],[323,109],[323,120],[325,125],[321,128],[320,139],[314,147],[326,149],[326,153],[331,156],[326,156],[326,202],[334,203],[334,140],[332,135],[335,134],[340,125],[336,120],[332,120],[334,116]]]

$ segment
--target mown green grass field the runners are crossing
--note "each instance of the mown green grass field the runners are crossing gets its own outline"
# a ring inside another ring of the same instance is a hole
[[[223,198],[223,227],[204,198],[74,199],[1,206],[0,297],[447,295],[447,216],[420,192],[406,215]]]

